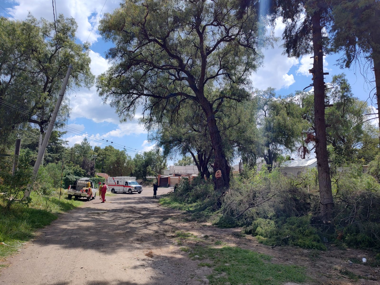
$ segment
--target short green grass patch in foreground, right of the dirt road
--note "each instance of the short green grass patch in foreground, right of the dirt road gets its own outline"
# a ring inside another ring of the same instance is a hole
[[[277,285],[283,282],[305,282],[309,278],[305,268],[295,265],[272,264],[271,256],[241,249],[239,247],[195,247],[190,253],[195,259],[209,259],[214,263],[214,272],[207,276],[211,285],[251,284]],[[199,256],[199,257],[197,257]],[[226,273],[226,278],[217,278]]]

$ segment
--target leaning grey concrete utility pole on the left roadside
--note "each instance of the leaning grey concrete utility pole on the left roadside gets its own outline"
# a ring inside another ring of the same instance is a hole
[[[57,103],[55,104],[54,112],[53,112],[51,119],[50,119],[50,122],[49,122],[49,128],[47,128],[47,131],[46,131],[45,137],[44,137],[44,141],[42,142],[41,149],[38,152],[36,163],[34,164],[32,182],[34,182],[36,180],[38,169],[40,168],[41,161],[42,161],[47,143],[49,142],[51,132],[53,131],[55,119],[57,119],[59,107],[61,106],[63,94],[65,94],[67,82],[69,81],[70,73],[71,73],[72,69],[73,69],[73,65],[70,64],[69,67],[67,68],[66,77],[65,77],[65,80],[63,81],[62,89],[59,92],[58,100],[57,100]],[[25,191],[24,198],[28,198],[30,196],[30,192],[31,192],[31,187],[28,187],[28,190]]]

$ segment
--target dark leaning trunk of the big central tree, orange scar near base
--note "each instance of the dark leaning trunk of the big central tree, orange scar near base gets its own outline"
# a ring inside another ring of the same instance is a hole
[[[212,109],[211,103],[207,101],[204,96],[199,96],[198,99],[207,116],[207,127],[210,131],[211,144],[215,157],[213,167],[214,173],[218,170],[222,171],[222,177],[215,178],[214,176],[214,189],[223,190],[230,187],[230,166],[228,166],[228,162],[226,160],[226,155],[222,146],[222,137],[220,136],[220,132],[216,124],[214,110]]]

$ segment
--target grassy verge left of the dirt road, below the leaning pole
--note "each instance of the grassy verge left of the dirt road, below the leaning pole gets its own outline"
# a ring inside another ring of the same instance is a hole
[[[15,204],[9,211],[0,203],[0,242],[12,246],[22,244],[33,238],[36,230],[54,221],[59,213],[70,211],[83,203],[66,199],[66,192],[59,201],[59,191],[50,197],[32,192],[30,197],[32,202],[28,207]],[[0,245],[0,260],[17,249],[18,247]]]

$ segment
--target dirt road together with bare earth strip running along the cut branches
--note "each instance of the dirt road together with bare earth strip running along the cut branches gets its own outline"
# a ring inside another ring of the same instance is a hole
[[[158,188],[158,195],[167,192]],[[231,245],[274,256],[272,262],[306,266],[312,278],[308,284],[339,280],[349,284],[345,269],[366,276],[362,284],[378,284],[377,268],[350,264],[366,252],[334,250],[313,252],[292,247],[274,248],[258,244],[253,237],[241,236],[240,229],[218,229],[185,221],[183,212],[158,205],[151,187],[141,194],[117,194],[86,202],[84,207],[62,214],[39,232],[38,238],[8,258],[8,268],[0,271],[0,284],[41,285],[135,285],[207,283],[212,272],[199,267],[181,247]],[[178,240],[184,231],[197,238]],[[367,274],[367,275],[365,275]]]

